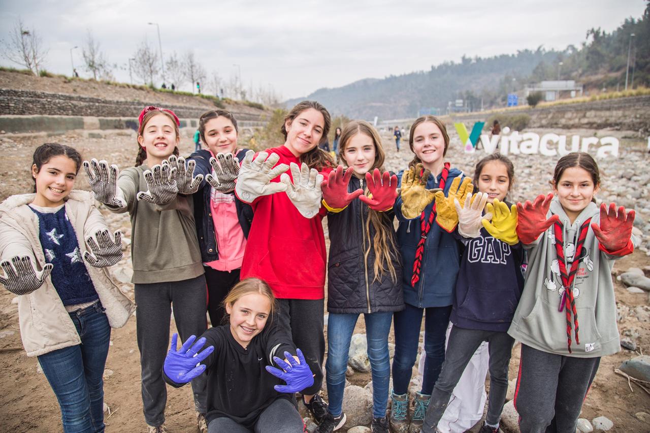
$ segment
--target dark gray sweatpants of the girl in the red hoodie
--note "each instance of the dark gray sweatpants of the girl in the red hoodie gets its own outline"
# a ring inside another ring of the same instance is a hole
[[[278,299],[275,318],[302,350],[305,361],[314,374],[314,384],[302,390],[302,395],[320,391],[323,383],[323,360],[325,358],[324,299]]]

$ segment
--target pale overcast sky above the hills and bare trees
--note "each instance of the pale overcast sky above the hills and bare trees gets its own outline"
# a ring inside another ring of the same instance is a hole
[[[428,70],[463,54],[578,46],[587,29],[609,33],[644,9],[642,0],[0,0],[0,34],[6,40],[20,17],[49,47],[47,70],[70,75],[70,48],[79,46],[74,63],[88,77],[81,47],[90,29],[109,61],[122,66],[118,81],[128,82],[127,59],[138,44],[146,38],[158,49],[153,21],[164,57],[191,49],[209,74],[227,80],[240,70],[245,87],[270,85],[287,99]]]

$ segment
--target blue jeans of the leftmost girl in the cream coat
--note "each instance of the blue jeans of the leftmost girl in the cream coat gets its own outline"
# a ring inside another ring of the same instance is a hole
[[[110,325],[101,304],[70,313],[81,345],[38,356],[52,387],[65,433],[104,431],[104,382],[109,354]]]

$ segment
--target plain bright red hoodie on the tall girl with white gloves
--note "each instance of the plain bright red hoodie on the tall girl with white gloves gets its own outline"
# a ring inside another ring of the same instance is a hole
[[[300,166],[298,157],[286,146],[266,149],[265,152],[269,155],[277,153],[280,157],[278,164],[296,163]],[[330,171],[331,168],[326,168],[320,173],[327,176]],[[286,173],[291,177],[291,170]],[[272,182],[279,180],[278,176]],[[256,277],[264,280],[277,298],[323,299],[327,256],[322,218],[327,215],[326,209],[321,207],[315,217],[307,219],[300,215],[286,192],[260,196],[250,205],[254,216],[242,261],[241,279]]]

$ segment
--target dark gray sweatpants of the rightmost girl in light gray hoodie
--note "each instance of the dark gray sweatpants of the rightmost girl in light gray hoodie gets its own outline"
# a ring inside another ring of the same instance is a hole
[[[522,433],[574,433],[601,361],[521,345],[515,408]]]

